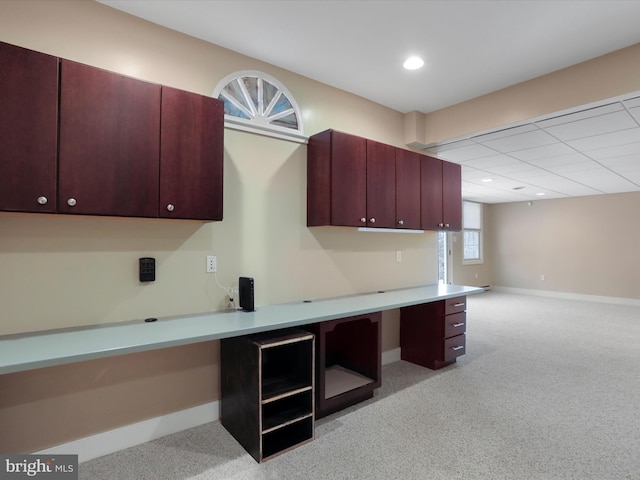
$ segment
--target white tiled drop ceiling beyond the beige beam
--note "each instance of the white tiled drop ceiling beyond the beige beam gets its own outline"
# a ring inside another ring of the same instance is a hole
[[[502,203],[640,191],[640,97],[428,150],[462,165],[467,200]]]

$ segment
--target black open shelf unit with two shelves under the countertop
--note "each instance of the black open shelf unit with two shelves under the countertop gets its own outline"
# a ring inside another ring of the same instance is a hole
[[[258,462],[313,440],[314,342],[287,329],[220,343],[220,420]]]

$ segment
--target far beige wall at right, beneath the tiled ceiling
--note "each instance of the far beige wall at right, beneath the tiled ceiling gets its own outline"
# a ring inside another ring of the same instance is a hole
[[[640,193],[489,209],[495,285],[640,299]]]

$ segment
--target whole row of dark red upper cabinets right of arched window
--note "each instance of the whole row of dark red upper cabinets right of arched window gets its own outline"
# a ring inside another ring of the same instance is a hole
[[[460,166],[326,130],[309,139],[307,226],[460,230]]]

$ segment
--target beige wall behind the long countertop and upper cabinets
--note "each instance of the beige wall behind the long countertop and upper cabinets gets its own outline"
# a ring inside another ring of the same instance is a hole
[[[398,112],[93,1],[0,2],[0,41],[205,95],[234,71],[261,70],[292,93],[307,134],[403,145]],[[306,145],[226,130],[224,155],[222,222],[0,213],[0,334],[220,309],[208,254],[220,283],[255,278],[258,305],[437,281],[434,233],[306,227]],[[157,260],[153,284],[137,280],[141,256]],[[399,345],[397,317],[383,316],[384,350]],[[209,342],[1,376],[0,451],[214,401],[218,375]]]

